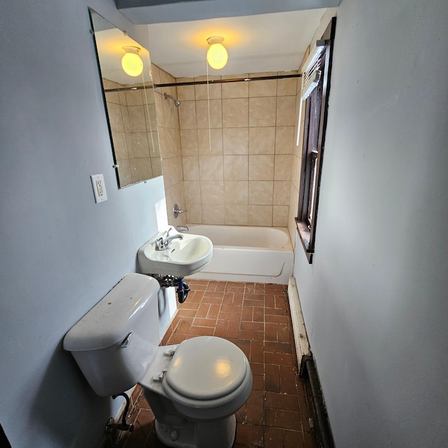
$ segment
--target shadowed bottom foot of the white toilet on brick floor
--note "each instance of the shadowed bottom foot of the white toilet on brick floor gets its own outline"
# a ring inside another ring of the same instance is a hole
[[[235,441],[235,414],[214,421],[186,421],[182,426],[166,425],[155,419],[160,442],[174,448],[231,448]]]

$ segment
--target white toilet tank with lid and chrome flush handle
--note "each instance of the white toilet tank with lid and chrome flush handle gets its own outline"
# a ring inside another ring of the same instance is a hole
[[[92,389],[127,391],[143,377],[159,344],[157,280],[127,274],[64,337]]]

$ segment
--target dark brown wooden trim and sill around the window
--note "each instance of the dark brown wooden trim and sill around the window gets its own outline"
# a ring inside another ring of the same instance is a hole
[[[304,123],[304,138],[302,147],[302,167],[300,170],[300,195],[299,204],[297,210],[297,218],[295,218],[297,225],[297,232],[302,241],[305,254],[307,255],[308,262],[311,263],[314,254],[314,244],[316,239],[316,221],[318,211],[318,199],[319,190],[321,186],[321,172],[323,164],[323,150],[325,148],[325,132],[327,129],[328,121],[328,97],[330,94],[330,79],[332,70],[332,50],[335,39],[336,18],[332,18],[327,29],[323,33],[322,39],[326,41],[325,45],[325,70],[323,72],[322,83],[322,102],[321,102],[321,114],[319,121],[318,131],[318,146],[317,155],[313,154],[313,151],[308,151],[308,133],[305,130],[309,129],[309,98],[307,99],[305,106],[305,123]],[[300,123],[299,123],[300,125]],[[316,188],[314,189],[314,207],[311,216],[311,223],[308,219],[308,207],[310,203],[309,189],[311,188],[311,175],[312,175],[312,158],[317,157],[316,162]]]

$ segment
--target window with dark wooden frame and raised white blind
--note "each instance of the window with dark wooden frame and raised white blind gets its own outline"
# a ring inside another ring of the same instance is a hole
[[[306,103],[299,204],[295,221],[297,232],[299,232],[302,246],[310,263],[316,239],[316,219],[327,126],[335,25],[336,18],[332,18],[322,39],[317,41],[314,54],[310,55],[305,62],[304,73],[302,73],[301,97],[302,100],[306,99]]]

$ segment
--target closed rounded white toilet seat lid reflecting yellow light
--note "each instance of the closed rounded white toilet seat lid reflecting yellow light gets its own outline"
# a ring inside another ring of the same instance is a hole
[[[214,336],[193,337],[179,345],[165,381],[185,397],[211,400],[234,391],[247,369],[246,355],[232,342]]]

